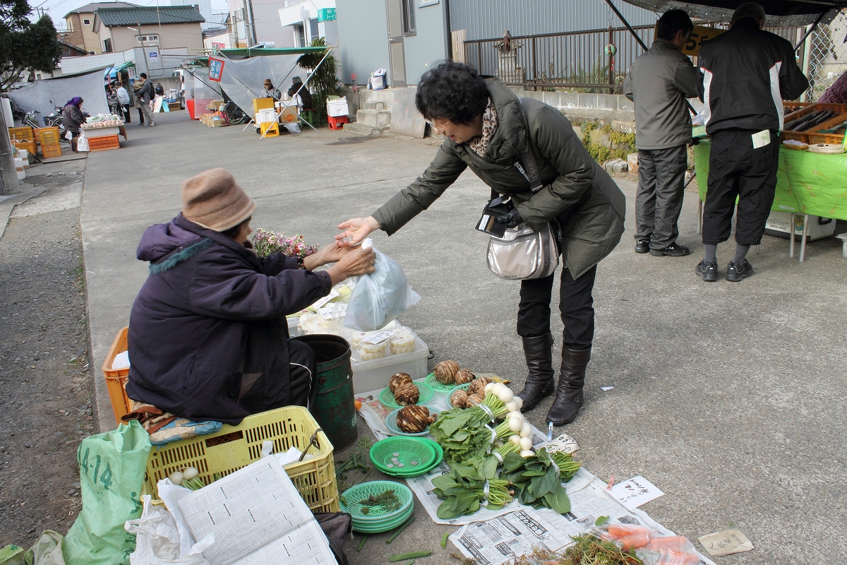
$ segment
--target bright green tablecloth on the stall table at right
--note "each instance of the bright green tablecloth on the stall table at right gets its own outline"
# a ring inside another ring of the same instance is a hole
[[[697,186],[703,201],[706,200],[710,150],[708,140],[700,140],[694,147]],[[771,209],[847,219],[847,153],[819,155],[780,148],[777,191]]]

